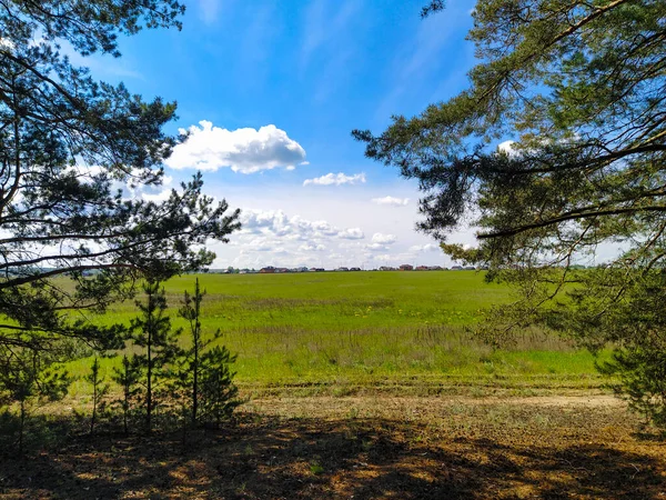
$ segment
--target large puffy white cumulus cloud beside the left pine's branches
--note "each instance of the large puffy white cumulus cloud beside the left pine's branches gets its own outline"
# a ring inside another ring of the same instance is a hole
[[[192,126],[184,142],[173,148],[165,161],[172,169],[218,170],[229,167],[234,172],[253,173],[275,167],[295,167],[305,159],[305,150],[284,130],[273,124],[259,130],[226,130],[206,120]]]

